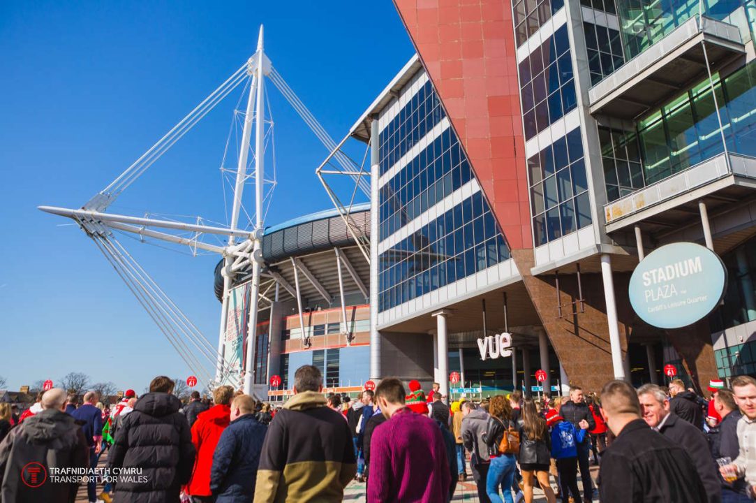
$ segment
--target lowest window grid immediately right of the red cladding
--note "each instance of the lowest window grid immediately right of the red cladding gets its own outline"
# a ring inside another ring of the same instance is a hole
[[[581,129],[528,159],[535,246],[590,225],[590,198]]]

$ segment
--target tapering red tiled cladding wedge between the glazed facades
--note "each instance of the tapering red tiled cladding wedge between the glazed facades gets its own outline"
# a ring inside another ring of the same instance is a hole
[[[512,9],[503,0],[394,0],[513,250],[531,248]]]

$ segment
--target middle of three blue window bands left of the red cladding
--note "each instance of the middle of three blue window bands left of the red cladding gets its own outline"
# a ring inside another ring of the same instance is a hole
[[[457,135],[447,128],[379,189],[379,236],[399,228],[472,179]]]

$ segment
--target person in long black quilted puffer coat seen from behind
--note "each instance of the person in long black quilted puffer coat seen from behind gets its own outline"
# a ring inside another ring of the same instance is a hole
[[[189,424],[178,411],[181,400],[171,394],[174,385],[169,377],[155,377],[150,393],[138,399],[116,433],[108,455],[110,473],[118,474],[116,468],[139,473],[116,477],[114,503],[175,503],[189,482],[197,453]]]

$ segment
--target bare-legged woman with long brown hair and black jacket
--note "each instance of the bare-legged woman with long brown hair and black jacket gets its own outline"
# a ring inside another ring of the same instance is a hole
[[[556,503],[556,496],[549,481],[551,436],[546,421],[538,415],[535,402],[531,398],[525,399],[520,414],[517,430],[520,434],[519,464],[525,503],[533,501],[534,480],[538,480],[548,503]]]

